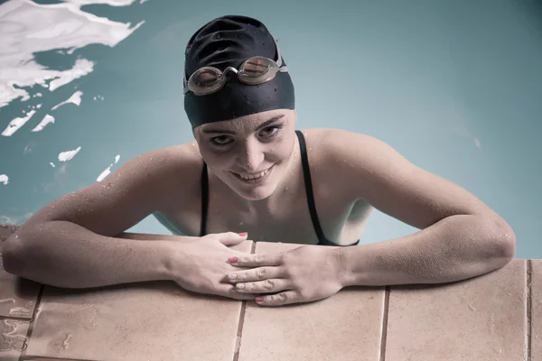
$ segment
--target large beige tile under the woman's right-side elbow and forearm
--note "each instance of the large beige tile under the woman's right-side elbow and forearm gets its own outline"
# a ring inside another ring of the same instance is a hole
[[[524,360],[526,261],[463,282],[392,287],[386,361]]]

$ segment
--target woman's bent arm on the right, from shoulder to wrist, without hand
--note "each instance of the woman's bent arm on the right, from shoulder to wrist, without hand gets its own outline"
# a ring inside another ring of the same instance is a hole
[[[508,264],[515,253],[509,225],[467,190],[406,161],[388,144],[337,131],[333,157],[356,199],[421,229],[387,242],[334,250],[348,285],[441,283]],[[346,166],[348,165],[348,166]]]

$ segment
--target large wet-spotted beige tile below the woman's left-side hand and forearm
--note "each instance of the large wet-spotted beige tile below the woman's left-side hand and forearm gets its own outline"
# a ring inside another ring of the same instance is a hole
[[[108,361],[231,361],[242,305],[184,292],[174,282],[45,287],[41,303],[27,355]]]

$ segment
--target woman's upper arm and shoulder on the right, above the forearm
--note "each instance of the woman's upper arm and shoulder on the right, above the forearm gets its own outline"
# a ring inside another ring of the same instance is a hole
[[[413,227],[453,215],[497,217],[468,190],[418,167],[378,138],[338,129],[306,134],[314,162],[332,174],[335,187]]]

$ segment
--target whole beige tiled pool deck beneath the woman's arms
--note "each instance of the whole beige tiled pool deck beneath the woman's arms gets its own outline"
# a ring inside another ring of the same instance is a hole
[[[0,237],[12,230],[0,226]],[[281,308],[173,282],[63,290],[0,268],[0,318],[2,361],[542,361],[542,261],[514,259],[444,285],[348,288]]]

